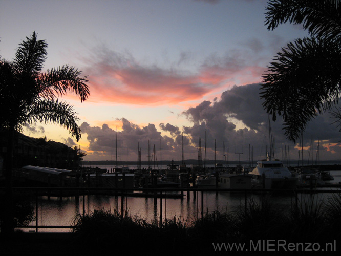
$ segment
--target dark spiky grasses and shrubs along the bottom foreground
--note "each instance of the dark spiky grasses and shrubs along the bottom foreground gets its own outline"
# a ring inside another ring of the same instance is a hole
[[[212,243],[270,239],[319,244],[336,240],[339,244],[341,196],[335,194],[325,202],[300,202],[287,210],[273,207],[267,198],[251,199],[245,209],[215,210],[207,212],[204,218],[191,220],[175,216],[162,222],[148,222],[128,212],[100,209],[89,215],[78,215],[72,232],[77,244],[88,252],[121,249],[128,254],[211,255],[219,254]]]

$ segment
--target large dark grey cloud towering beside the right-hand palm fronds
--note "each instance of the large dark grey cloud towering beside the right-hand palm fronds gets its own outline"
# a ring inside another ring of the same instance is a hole
[[[195,108],[189,108],[183,114],[194,125],[185,127],[184,132],[192,137],[192,142],[197,146],[199,138],[201,138],[203,145],[203,138],[205,138],[206,133],[207,146],[210,149],[213,148],[214,141],[216,140],[219,148],[222,147],[224,141],[225,145],[232,148],[233,151],[244,151],[245,154],[246,148],[250,144],[254,147],[257,154],[263,154],[268,141],[268,114],[262,107],[262,100],[259,97],[259,93],[260,84],[235,86],[223,92],[220,100],[214,101],[213,103],[203,101]],[[246,127],[238,129],[230,118],[237,119]],[[270,121],[270,123],[278,154],[281,154],[281,150],[285,146],[293,148],[295,145],[284,136],[283,119],[278,117],[278,121]],[[313,119],[307,125],[306,131],[304,132],[304,145],[310,146],[311,136],[313,136],[313,140],[315,141],[313,145],[315,149],[316,141],[318,138],[322,140],[322,136],[323,140],[327,142],[337,142],[339,140],[339,132],[330,123],[329,113]],[[327,155],[339,151],[337,146],[332,146],[331,148],[333,150],[325,152]],[[294,158],[296,158],[296,155]]]

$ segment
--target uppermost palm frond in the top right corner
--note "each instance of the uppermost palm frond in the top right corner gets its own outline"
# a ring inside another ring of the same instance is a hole
[[[341,8],[339,0],[270,0],[266,7],[268,30],[290,22],[303,24],[312,36],[341,38]]]

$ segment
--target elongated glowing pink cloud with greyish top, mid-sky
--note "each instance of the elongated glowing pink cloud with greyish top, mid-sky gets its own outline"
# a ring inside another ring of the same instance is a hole
[[[233,84],[259,82],[265,68],[248,65],[235,56],[210,56],[197,73],[142,66],[131,56],[108,49],[88,60],[91,97],[94,102],[165,105],[201,100],[205,95]]]

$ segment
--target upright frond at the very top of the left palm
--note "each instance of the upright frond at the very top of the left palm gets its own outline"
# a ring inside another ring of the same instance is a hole
[[[37,40],[37,34],[32,33],[19,45],[13,60],[13,67],[18,74],[37,75],[44,67],[47,58],[45,40]]]

